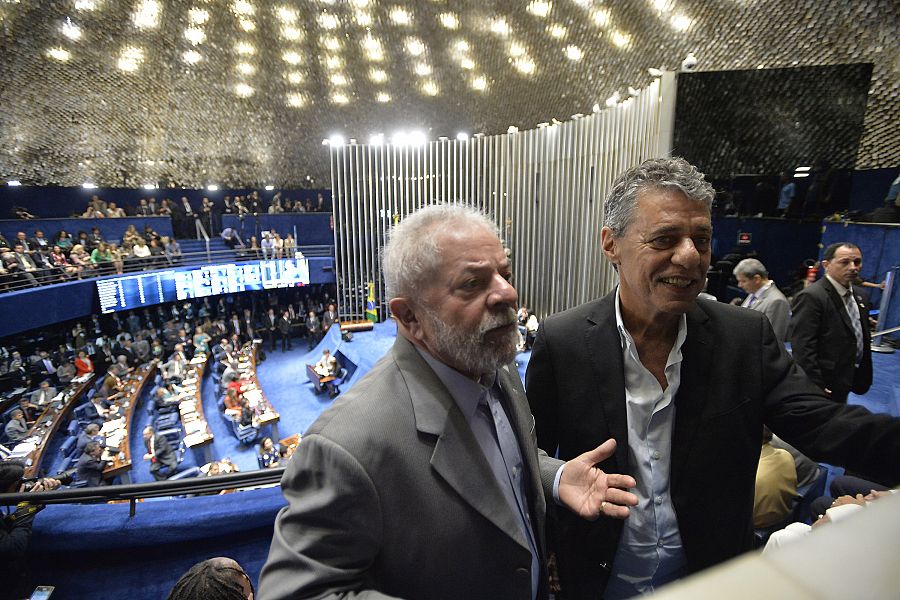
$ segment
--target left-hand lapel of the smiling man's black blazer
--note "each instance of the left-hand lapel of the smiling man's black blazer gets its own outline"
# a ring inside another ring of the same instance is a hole
[[[615,298],[616,292],[608,294],[588,315],[584,341],[594,365],[592,379],[596,392],[590,393],[590,398],[592,402],[599,404],[602,413],[602,422],[596,424],[597,431],[602,434],[600,441],[612,437],[618,442],[612,464],[601,468],[610,473],[628,473],[630,466],[628,413],[625,409],[625,366],[622,358],[622,338],[616,327]],[[601,373],[605,377],[601,377]],[[603,425],[606,425],[606,431],[603,431]]]

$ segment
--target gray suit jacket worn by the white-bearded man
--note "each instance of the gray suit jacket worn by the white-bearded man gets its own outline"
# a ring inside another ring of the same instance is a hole
[[[521,381],[499,383],[530,482],[541,565],[544,494]],[[259,598],[532,598],[531,553],[462,412],[415,347],[391,352],[313,423],[281,481]],[[547,597],[545,569],[539,598]]]

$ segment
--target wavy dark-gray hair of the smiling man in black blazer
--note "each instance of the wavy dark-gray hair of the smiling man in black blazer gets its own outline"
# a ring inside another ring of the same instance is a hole
[[[675,189],[710,210],[716,192],[703,173],[680,157],[651,158],[616,177],[603,203],[603,225],[621,237],[631,224],[638,195],[645,190]]]

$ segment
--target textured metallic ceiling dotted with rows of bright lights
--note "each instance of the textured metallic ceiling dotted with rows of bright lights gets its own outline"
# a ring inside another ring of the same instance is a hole
[[[0,0],[0,177],[327,186],[332,134],[531,128],[688,52],[874,63],[857,167],[895,166],[897,33],[892,0]]]

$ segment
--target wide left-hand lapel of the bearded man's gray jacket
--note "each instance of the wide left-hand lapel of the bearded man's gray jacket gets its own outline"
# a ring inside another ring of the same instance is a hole
[[[444,384],[401,335],[397,335],[393,355],[409,390],[416,428],[437,436],[431,466],[466,503],[522,547],[529,548],[518,517]]]

